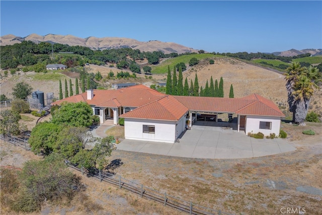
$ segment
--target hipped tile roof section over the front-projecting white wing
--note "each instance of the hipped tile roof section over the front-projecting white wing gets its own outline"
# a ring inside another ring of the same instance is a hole
[[[124,113],[120,117],[178,121],[188,110],[173,96],[166,96]]]

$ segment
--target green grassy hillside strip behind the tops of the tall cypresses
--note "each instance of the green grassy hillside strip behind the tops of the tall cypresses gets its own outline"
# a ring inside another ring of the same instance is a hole
[[[214,59],[216,62],[216,57],[224,57],[221,55],[214,55],[214,54],[189,54],[189,55],[182,55],[175,58],[170,58],[168,60],[159,63],[158,65],[151,66],[151,73],[152,74],[167,74],[168,73],[168,65],[170,65],[170,70],[173,72],[173,67],[180,62],[184,62],[186,66],[189,65],[189,60],[191,58],[197,58],[198,60],[204,59]]]

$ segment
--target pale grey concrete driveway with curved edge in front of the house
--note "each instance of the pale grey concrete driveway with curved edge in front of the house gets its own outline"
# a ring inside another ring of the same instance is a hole
[[[247,136],[244,131],[202,125],[194,125],[191,130],[186,130],[179,142],[174,144],[125,139],[117,149],[204,159],[254,158],[296,150],[282,138],[256,139]]]

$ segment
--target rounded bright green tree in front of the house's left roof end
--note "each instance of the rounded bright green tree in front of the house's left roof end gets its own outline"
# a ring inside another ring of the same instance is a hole
[[[68,124],[72,126],[92,125],[93,109],[86,102],[65,103],[55,111],[52,122],[57,124]]]

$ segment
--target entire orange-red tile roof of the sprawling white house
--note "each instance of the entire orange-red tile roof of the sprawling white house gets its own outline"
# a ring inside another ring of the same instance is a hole
[[[87,93],[83,93],[52,104],[59,105],[64,101],[85,101],[99,107],[139,107],[122,115],[129,118],[176,120],[187,109],[213,113],[285,116],[273,102],[257,94],[244,98],[168,96],[144,85],[119,90],[94,90],[92,100],[87,100]]]

